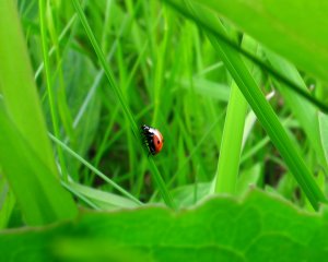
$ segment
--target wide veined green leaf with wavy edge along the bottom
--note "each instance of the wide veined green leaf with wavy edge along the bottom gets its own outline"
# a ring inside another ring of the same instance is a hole
[[[82,213],[74,222],[8,230],[1,261],[323,261],[328,221],[255,190],[174,212],[148,206]],[[122,252],[125,250],[125,252]]]

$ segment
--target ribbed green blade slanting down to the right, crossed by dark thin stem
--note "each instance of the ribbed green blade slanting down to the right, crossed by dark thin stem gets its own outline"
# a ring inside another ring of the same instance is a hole
[[[178,4],[178,2],[175,3]],[[192,17],[194,15],[197,17],[194,21],[200,20],[204,24],[210,24],[210,28],[215,28],[221,35],[229,37],[222,23],[211,11],[204,10],[196,4],[192,4],[191,7],[192,11],[191,13],[189,12],[189,14]],[[186,5],[179,5],[179,9],[188,12]],[[225,67],[230,71],[231,75],[234,78],[246,100],[257,115],[260,123],[269,134],[271,141],[279,150],[281,156],[283,157],[291,172],[294,175],[300,187],[305,192],[314,209],[317,210],[319,207],[319,203],[327,202],[327,200],[316,184],[311,171],[307,169],[300,155],[300,152],[296,150],[295,145],[280,123],[272,107],[266,100],[265,95],[261,93],[255,80],[248,72],[245,63],[239,57],[239,53],[233,50],[226,43],[215,38],[215,36],[210,34],[209,38],[220,55],[222,61],[225,63]]]

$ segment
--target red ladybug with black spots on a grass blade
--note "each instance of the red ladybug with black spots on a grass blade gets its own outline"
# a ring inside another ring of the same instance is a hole
[[[149,148],[149,153],[152,155],[159,154],[164,143],[164,139],[161,132],[155,128],[143,124],[141,127],[141,133],[143,135],[144,143]]]

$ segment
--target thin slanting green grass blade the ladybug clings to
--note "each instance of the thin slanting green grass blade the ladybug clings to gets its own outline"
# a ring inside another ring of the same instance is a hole
[[[134,136],[138,140],[138,143],[143,148],[142,142],[141,142],[141,139],[140,139],[140,131],[139,131],[138,124],[137,124],[137,122],[136,122],[136,120],[133,118],[133,115],[132,115],[132,112],[131,112],[128,104],[125,102],[125,98],[124,98],[124,96],[121,94],[121,91],[118,88],[117,84],[115,83],[115,79],[113,76],[113,73],[112,73],[108,64],[107,64],[106,58],[105,58],[105,56],[104,56],[104,53],[103,53],[103,51],[102,51],[102,49],[101,49],[101,47],[99,47],[99,45],[98,45],[98,43],[97,43],[94,34],[93,34],[93,32],[92,32],[92,29],[91,29],[91,27],[90,27],[90,25],[87,23],[87,20],[85,17],[84,13],[83,13],[81,4],[80,4],[80,2],[78,0],[72,0],[72,3],[73,3],[73,5],[74,5],[74,8],[77,10],[77,13],[78,13],[78,15],[80,17],[80,21],[81,21],[84,29],[85,29],[85,33],[86,33],[90,41],[92,43],[94,51],[96,52],[97,58],[99,59],[99,62],[101,62],[104,71],[105,71],[105,74],[107,76],[109,85],[110,85],[112,90],[114,91],[117,99],[119,100],[119,104],[121,105],[121,108],[122,108],[122,110],[125,112],[125,116],[129,120],[129,123],[130,123],[131,129],[132,129],[132,131],[134,133]],[[144,148],[144,151],[145,151],[145,148]],[[157,169],[154,160],[151,157],[149,157],[149,163],[150,163],[150,168],[152,170],[153,179],[155,180],[155,183],[159,187],[159,190],[160,190],[160,192],[162,194],[163,200],[165,201],[165,203],[168,206],[174,207],[173,199],[172,199],[172,196],[171,196],[171,194],[169,194],[169,192],[168,192],[168,190],[167,190],[167,188],[165,186],[165,182],[164,182],[164,180],[163,180],[163,178],[162,178],[162,176],[161,176],[161,174],[160,174],[160,171],[159,171],[159,169]]]

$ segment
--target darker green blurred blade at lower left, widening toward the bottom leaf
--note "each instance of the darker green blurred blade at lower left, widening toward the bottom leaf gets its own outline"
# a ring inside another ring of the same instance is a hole
[[[0,163],[28,225],[45,225],[73,218],[78,209],[71,195],[51,176],[15,127],[0,102]]]

